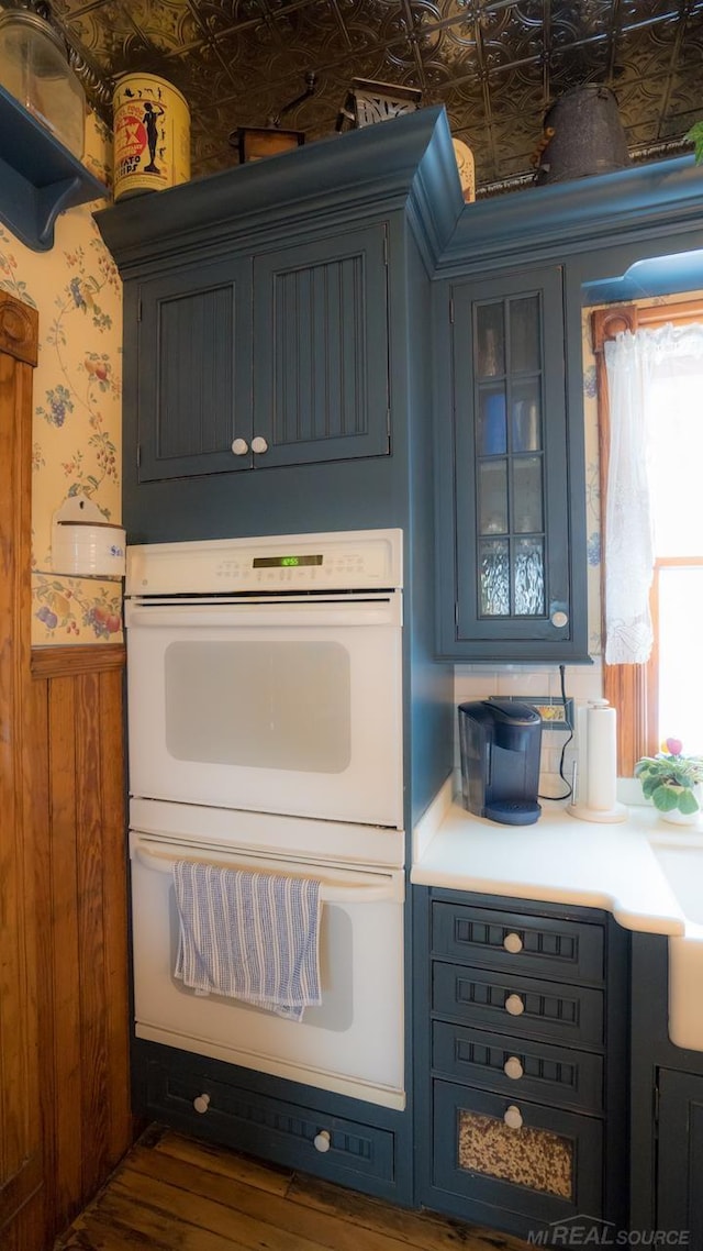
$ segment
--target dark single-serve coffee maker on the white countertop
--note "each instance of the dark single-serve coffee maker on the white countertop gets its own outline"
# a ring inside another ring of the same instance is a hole
[[[459,704],[464,808],[502,826],[530,826],[542,808],[542,717],[528,704],[482,699]]]

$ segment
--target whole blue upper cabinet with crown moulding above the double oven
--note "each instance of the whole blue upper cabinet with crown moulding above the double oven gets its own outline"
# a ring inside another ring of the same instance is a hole
[[[408,524],[462,208],[424,109],[96,214],[124,279],[130,542]]]

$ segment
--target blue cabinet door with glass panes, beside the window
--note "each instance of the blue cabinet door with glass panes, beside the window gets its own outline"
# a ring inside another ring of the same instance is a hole
[[[450,483],[440,490],[442,652],[565,658],[573,483],[562,270],[458,283],[449,308],[452,435],[447,412],[438,414],[452,444],[439,433]]]

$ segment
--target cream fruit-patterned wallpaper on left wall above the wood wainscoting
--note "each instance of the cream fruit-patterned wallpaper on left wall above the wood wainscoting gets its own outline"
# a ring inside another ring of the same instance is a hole
[[[108,184],[109,133],[93,115],[85,164]],[[33,646],[123,639],[121,578],[70,577],[51,560],[53,515],[70,497],[85,497],[114,525],[121,518],[121,281],[93,220],[101,203],[63,213],[46,253],[0,226],[0,288],[39,310]]]

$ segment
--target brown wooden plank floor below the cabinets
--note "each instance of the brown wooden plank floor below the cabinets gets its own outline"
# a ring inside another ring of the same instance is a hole
[[[523,1251],[460,1221],[153,1127],[54,1251]]]

